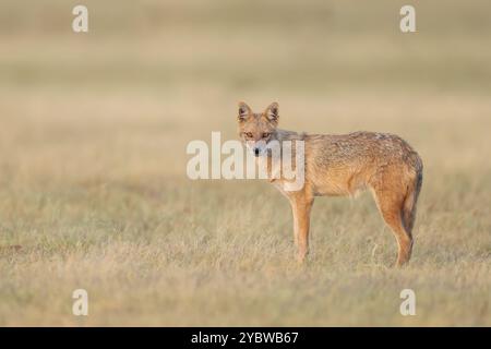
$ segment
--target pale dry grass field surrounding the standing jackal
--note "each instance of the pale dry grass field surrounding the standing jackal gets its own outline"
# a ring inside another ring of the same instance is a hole
[[[88,34],[76,3],[0,4],[0,325],[491,326],[489,1],[417,4],[415,34],[388,0],[87,1]],[[315,201],[300,266],[271,185],[189,180],[187,144],[236,137],[240,99],[406,139],[410,265],[368,193]]]

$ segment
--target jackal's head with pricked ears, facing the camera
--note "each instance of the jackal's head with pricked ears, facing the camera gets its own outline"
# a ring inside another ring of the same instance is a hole
[[[267,143],[275,137],[278,118],[276,101],[263,112],[253,112],[247,104],[239,103],[239,136],[255,156],[266,153]]]

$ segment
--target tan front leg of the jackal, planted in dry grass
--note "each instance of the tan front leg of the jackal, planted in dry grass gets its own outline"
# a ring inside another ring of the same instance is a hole
[[[291,212],[294,214],[295,244],[297,246],[297,260],[303,262],[309,252],[310,210],[313,198],[306,195],[290,197]]]

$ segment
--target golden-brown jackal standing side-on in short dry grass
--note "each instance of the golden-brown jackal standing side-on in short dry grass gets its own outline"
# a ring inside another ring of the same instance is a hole
[[[239,135],[258,158],[271,158],[267,152],[271,141],[280,144],[284,141],[304,142],[303,186],[287,191],[286,179],[270,177],[270,181],[291,204],[299,261],[304,260],[309,249],[310,212],[314,196],[354,195],[368,188],[397,240],[396,265],[407,263],[412,250],[411,231],[422,183],[422,161],[418,154],[393,134],[297,133],[277,129],[278,118],[276,103],[259,113],[252,112],[247,104],[239,104]]]

